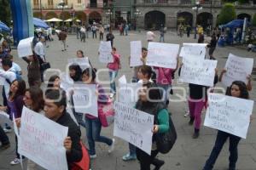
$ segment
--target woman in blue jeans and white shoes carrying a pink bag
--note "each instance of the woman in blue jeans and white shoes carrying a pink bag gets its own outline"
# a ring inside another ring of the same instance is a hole
[[[95,81],[96,72],[91,68],[87,68],[82,73],[82,81],[85,84],[96,84],[96,94],[98,96],[98,103],[108,102],[108,96],[105,94],[102,86]],[[114,149],[114,139],[108,139],[105,136],[101,136],[102,123],[96,116],[91,116],[90,113],[85,114],[86,136],[89,144],[90,158],[96,158],[95,142],[102,142],[108,144],[108,153],[111,153]]]

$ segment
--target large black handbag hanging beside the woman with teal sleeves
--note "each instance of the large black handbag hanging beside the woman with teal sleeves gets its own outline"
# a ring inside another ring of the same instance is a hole
[[[155,120],[158,124],[157,119]],[[172,150],[176,140],[177,132],[172,122],[171,114],[169,113],[169,130],[166,133],[155,133],[157,150],[162,154],[168,153],[170,150]]]

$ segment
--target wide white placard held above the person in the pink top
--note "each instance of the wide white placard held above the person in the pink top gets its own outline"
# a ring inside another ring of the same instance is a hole
[[[149,42],[146,65],[175,69],[179,44]]]

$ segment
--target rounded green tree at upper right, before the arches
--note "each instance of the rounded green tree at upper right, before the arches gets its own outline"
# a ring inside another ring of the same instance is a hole
[[[217,25],[223,25],[236,19],[235,6],[232,3],[225,3],[218,15]]]

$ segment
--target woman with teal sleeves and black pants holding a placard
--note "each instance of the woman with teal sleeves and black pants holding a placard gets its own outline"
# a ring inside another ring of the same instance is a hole
[[[154,170],[159,170],[165,164],[165,161],[160,161],[155,158],[159,151],[156,145],[156,133],[166,133],[169,130],[169,113],[166,110],[166,104],[160,102],[160,89],[152,83],[143,84],[143,88],[139,92],[139,99],[135,108],[139,111],[144,111],[148,114],[154,115],[154,129],[152,139],[151,155],[149,156],[145,151],[137,148],[137,159],[140,161],[141,170],[150,170],[150,165],[155,166]]]

